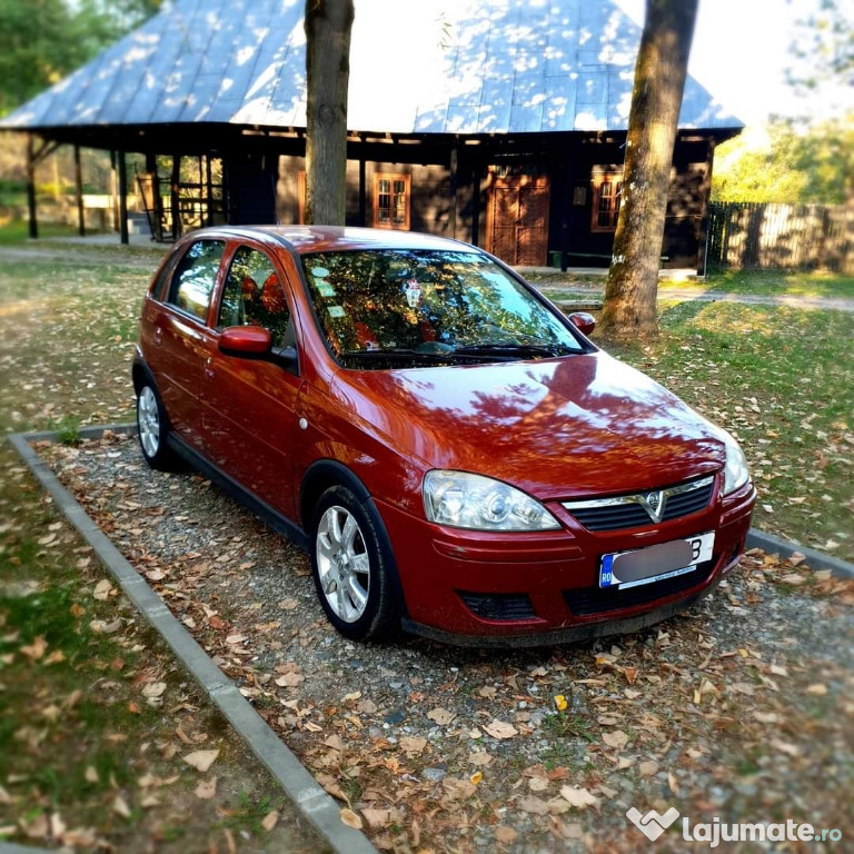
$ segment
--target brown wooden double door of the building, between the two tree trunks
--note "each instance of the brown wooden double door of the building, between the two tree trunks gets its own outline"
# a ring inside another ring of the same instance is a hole
[[[548,195],[547,176],[494,176],[487,207],[487,249],[513,266],[545,267]]]

